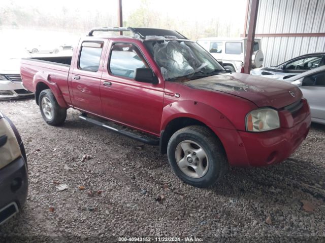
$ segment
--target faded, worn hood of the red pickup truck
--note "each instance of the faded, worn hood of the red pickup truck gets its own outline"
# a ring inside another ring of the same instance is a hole
[[[258,107],[282,108],[302,98],[295,85],[243,73],[219,74],[183,83],[194,89],[232,94],[252,101]]]

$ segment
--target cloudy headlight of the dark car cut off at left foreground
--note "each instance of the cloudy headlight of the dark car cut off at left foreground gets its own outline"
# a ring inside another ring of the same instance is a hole
[[[7,136],[7,142],[0,147],[0,169],[4,168],[21,155],[14,131],[5,118],[0,119],[0,137]]]

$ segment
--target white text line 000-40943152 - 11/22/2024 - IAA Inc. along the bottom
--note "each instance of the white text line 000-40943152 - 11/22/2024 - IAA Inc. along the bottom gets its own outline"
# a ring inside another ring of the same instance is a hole
[[[202,238],[197,237],[118,237],[119,242],[203,242]]]

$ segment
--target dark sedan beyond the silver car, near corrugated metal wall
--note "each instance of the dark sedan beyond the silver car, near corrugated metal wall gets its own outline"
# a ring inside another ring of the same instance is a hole
[[[325,53],[311,53],[295,57],[277,66],[255,68],[252,75],[263,75],[275,79],[286,79],[325,65]]]

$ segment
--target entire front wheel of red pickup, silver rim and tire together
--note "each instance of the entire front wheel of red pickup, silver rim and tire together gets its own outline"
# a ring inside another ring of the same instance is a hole
[[[189,126],[173,134],[167,155],[174,173],[196,187],[214,185],[228,170],[221,142],[202,126]]]

